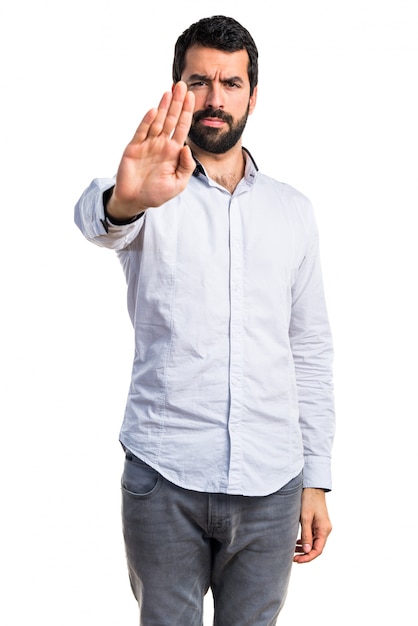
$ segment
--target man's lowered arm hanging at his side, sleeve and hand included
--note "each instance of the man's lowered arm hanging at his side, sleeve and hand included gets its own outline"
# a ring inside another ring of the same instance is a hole
[[[319,258],[318,233],[310,213],[306,256],[292,291],[290,341],[295,363],[299,421],[304,447],[301,537],[294,561],[319,556],[331,532],[325,492],[331,489],[334,438],[333,347]]]

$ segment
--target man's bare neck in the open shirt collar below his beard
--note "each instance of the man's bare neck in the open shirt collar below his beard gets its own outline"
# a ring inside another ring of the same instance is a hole
[[[241,143],[239,142],[224,154],[212,154],[199,150],[192,143],[190,143],[190,148],[205,168],[208,176],[218,185],[233,193],[245,171],[245,158]]]

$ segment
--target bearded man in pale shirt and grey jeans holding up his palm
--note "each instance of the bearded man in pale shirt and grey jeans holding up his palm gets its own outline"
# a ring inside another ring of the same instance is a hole
[[[235,20],[193,24],[116,179],[76,206],[128,285],[123,528],[144,626],[202,624],[209,588],[217,626],[275,624],[292,561],[320,555],[331,530],[318,236],[309,201],[242,147],[257,56]]]

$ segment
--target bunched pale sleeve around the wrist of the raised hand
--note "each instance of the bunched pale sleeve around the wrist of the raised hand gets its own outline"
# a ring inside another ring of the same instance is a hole
[[[75,205],[74,220],[89,241],[104,248],[123,250],[142,228],[143,215],[127,224],[115,224],[106,214],[103,194],[115,185],[114,178],[95,178]]]

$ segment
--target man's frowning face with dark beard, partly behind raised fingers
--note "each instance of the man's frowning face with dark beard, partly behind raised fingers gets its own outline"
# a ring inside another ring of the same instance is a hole
[[[182,80],[195,95],[189,140],[201,150],[224,154],[241,139],[252,113],[248,53],[193,46],[186,53]]]

